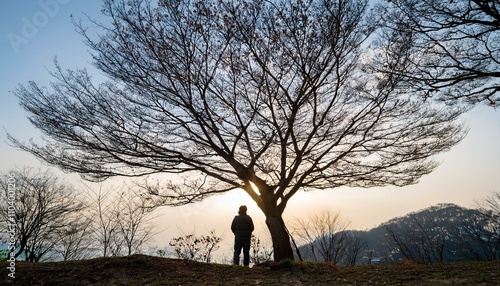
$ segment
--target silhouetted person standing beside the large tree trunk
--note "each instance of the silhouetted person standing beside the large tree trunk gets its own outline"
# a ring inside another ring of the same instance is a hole
[[[240,253],[243,248],[243,265],[250,264],[250,239],[253,231],[253,221],[247,215],[247,207],[241,206],[238,215],[234,217],[231,223],[231,230],[234,233],[234,258],[235,265],[240,264]]]

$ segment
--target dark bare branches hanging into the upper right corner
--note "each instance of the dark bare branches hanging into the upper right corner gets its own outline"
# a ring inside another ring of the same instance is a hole
[[[406,43],[408,88],[449,103],[500,106],[498,0],[385,1],[389,42]],[[392,70],[391,72],[394,72]]]

